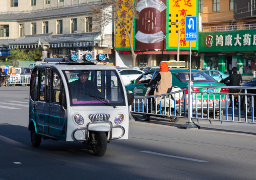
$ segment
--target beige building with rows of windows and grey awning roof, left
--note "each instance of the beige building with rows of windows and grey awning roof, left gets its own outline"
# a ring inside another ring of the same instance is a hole
[[[3,0],[0,14],[0,58],[13,48],[40,48],[42,59],[63,57],[70,52],[97,51],[107,56],[113,49],[110,22],[101,28],[90,6],[98,0]]]

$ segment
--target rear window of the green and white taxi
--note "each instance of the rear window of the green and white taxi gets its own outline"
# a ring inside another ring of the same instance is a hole
[[[174,74],[178,78],[178,80],[180,80],[181,82],[189,81],[189,72],[172,73],[172,74]],[[191,72],[191,81],[216,81],[216,80],[206,73]]]

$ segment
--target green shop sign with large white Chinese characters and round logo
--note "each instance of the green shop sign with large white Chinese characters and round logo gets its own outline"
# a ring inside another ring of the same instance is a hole
[[[255,51],[256,30],[200,33],[199,42],[199,52]]]

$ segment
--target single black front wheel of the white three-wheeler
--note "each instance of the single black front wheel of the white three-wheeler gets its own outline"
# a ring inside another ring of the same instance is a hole
[[[107,149],[107,136],[105,132],[95,132],[95,144],[92,146],[94,155],[103,156]]]

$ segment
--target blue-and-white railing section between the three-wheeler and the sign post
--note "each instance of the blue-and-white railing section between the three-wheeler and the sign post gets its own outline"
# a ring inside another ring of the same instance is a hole
[[[181,105],[181,101],[183,92],[186,90],[187,88],[161,95],[134,96],[134,103],[131,106],[131,112],[164,117],[184,118],[184,114],[181,114],[183,111],[182,109],[184,108]],[[157,97],[160,97],[159,106],[157,106],[157,103],[155,103],[157,102]]]

